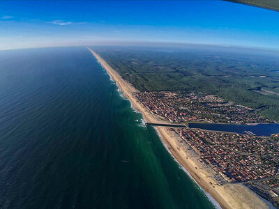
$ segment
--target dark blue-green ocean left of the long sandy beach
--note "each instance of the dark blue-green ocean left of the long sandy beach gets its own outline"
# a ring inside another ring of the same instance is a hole
[[[213,208],[89,50],[0,52],[0,98],[0,208]]]

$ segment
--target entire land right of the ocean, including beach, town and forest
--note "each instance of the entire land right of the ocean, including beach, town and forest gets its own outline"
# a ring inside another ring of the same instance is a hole
[[[91,48],[135,108],[156,125],[172,155],[220,206],[271,207],[255,193],[279,206],[279,134],[188,127],[273,123],[278,130],[278,52],[200,45]]]

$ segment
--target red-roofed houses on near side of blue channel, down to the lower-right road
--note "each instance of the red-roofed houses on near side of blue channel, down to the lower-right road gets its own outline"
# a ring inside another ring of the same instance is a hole
[[[175,128],[206,164],[229,182],[274,178],[278,171],[278,141],[249,134],[227,134]],[[264,141],[264,142],[262,142]],[[275,149],[271,151],[269,147]]]

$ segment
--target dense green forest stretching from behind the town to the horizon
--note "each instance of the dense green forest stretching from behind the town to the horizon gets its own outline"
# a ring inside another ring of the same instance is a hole
[[[246,49],[99,48],[140,91],[203,91],[257,109],[279,121],[279,55]]]

